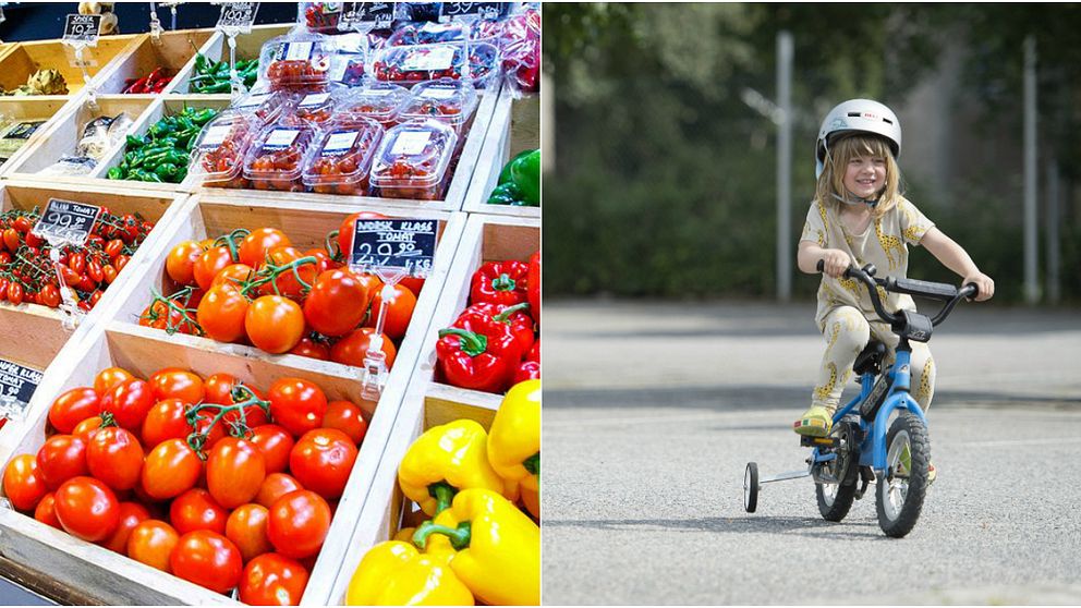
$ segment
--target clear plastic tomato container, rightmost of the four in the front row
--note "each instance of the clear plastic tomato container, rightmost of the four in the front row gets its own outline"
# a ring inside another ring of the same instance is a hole
[[[417,120],[387,132],[372,163],[372,186],[386,198],[438,200],[450,178],[458,135],[446,123]]]

